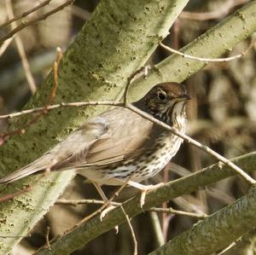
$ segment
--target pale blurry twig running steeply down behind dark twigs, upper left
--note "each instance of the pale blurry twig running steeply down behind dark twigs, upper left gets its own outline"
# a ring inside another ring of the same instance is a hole
[[[14,11],[13,11],[11,0],[5,0],[5,4],[6,4],[6,10],[7,10],[9,19],[12,19],[14,17]],[[15,29],[16,27],[17,27],[17,24],[15,21],[13,23],[11,23],[12,29]],[[23,69],[25,72],[27,83],[29,85],[29,88],[30,88],[32,94],[34,94],[37,90],[37,86],[34,81],[34,78],[32,77],[32,72],[30,71],[29,63],[26,58],[26,51],[24,49],[23,43],[18,34],[15,36],[15,43],[16,43],[16,46],[18,49],[18,53],[20,55],[20,60],[21,60],[21,63],[22,63],[22,66],[23,66]]]

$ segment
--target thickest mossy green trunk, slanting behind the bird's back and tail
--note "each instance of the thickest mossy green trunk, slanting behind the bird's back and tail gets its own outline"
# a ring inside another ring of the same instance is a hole
[[[119,98],[126,78],[145,64],[188,1],[102,0],[62,57],[55,102]],[[50,73],[26,108],[44,106],[52,87]],[[11,136],[0,148],[1,176],[37,159],[85,119],[101,111],[102,107],[58,109],[42,116],[24,135]],[[31,118],[16,119],[10,127],[20,128]],[[19,236],[27,235],[72,177],[73,172],[66,171],[1,187],[3,195],[13,193],[24,183],[32,186],[32,192],[0,205],[1,254],[9,253],[21,239]]]

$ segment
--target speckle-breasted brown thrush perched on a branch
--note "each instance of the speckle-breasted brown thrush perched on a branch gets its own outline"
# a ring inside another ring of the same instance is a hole
[[[183,84],[156,84],[133,106],[155,119],[185,132],[186,101]],[[85,122],[40,158],[0,178],[0,184],[44,171],[76,171],[89,179],[107,203],[102,185],[125,182],[145,192],[152,188],[141,182],[158,174],[177,154],[183,139],[170,130],[125,107],[114,107]]]

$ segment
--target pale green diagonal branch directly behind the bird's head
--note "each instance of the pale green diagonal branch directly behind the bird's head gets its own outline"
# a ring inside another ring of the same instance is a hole
[[[248,38],[255,31],[256,1],[251,1],[179,51],[202,58],[216,58],[230,52],[236,43]],[[154,84],[160,82],[183,82],[206,65],[206,62],[189,60],[173,54],[152,68],[147,79],[139,78],[132,83],[128,99],[139,99]]]

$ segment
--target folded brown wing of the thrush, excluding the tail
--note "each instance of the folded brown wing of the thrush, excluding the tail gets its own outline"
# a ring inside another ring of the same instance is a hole
[[[137,113],[123,108],[114,108],[102,113],[84,124],[79,132],[82,137],[88,136],[91,126],[103,125],[105,132],[98,136],[90,146],[79,146],[70,157],[55,165],[54,169],[70,168],[72,166],[86,167],[91,165],[106,165],[125,159],[149,139],[153,124],[143,119]]]

